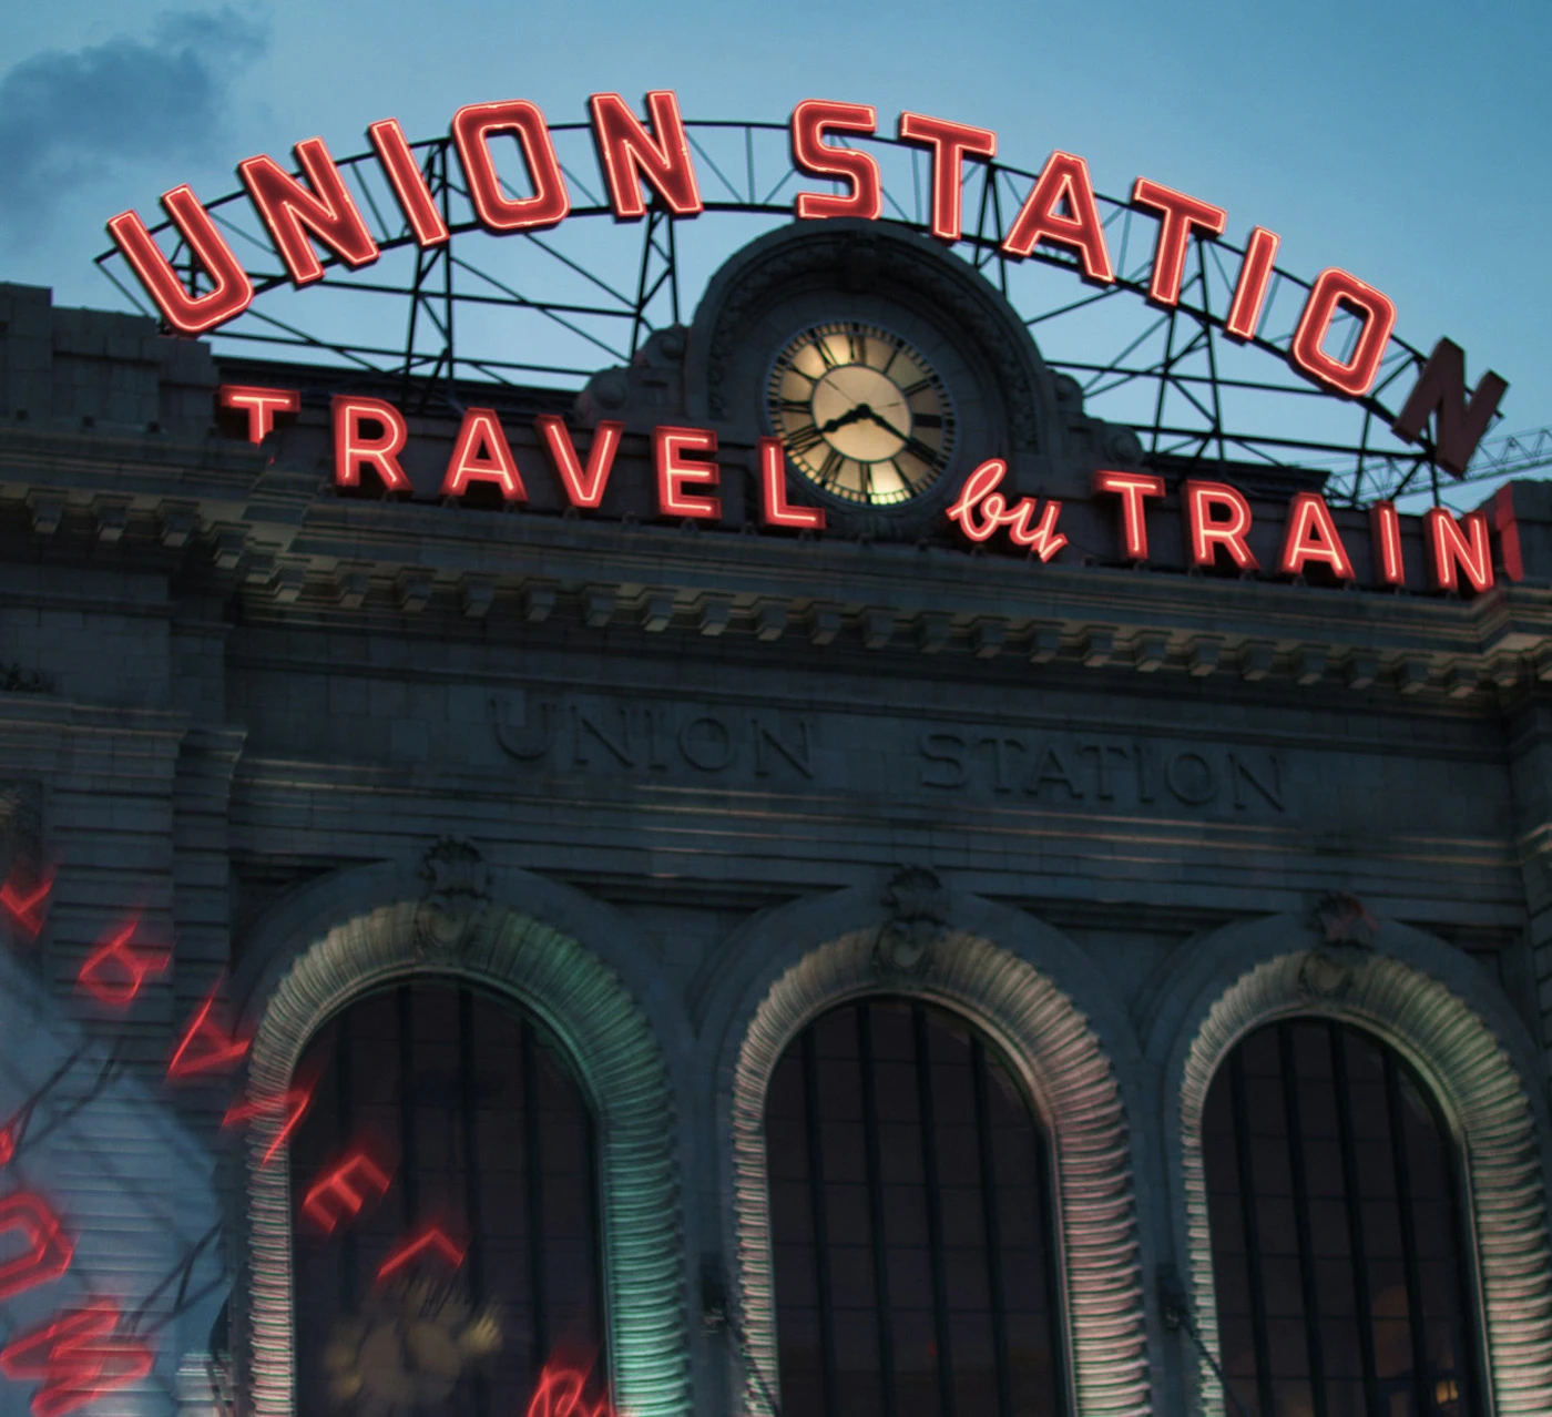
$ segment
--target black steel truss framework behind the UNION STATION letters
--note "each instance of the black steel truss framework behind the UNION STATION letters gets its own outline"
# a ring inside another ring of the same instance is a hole
[[[686,127],[705,216],[675,219],[653,200],[641,222],[616,222],[596,175],[590,127],[554,124],[571,214],[560,227],[508,239],[486,234],[475,220],[452,140],[416,143],[455,236],[431,248],[416,244],[374,154],[340,160],[382,259],[352,272],[327,256],[323,279],[304,292],[293,289],[245,191],[210,202],[253,275],[256,296],[268,296],[219,332],[219,348],[393,376],[405,407],[422,411],[462,407],[461,388],[472,380],[580,386],[598,368],[627,363],[653,331],[692,310],[686,292],[698,292],[728,255],[731,227],[742,228],[739,242],[751,239],[793,219],[799,188],[835,189],[793,169],[785,124]],[[883,219],[930,230],[930,154],[886,137],[850,146],[878,160]],[[518,174],[515,143],[506,157]],[[1422,351],[1392,337],[1375,386],[1361,399],[1319,388],[1287,357],[1310,282],[1282,269],[1273,276],[1257,337],[1229,338],[1223,320],[1242,248],[1217,237],[1192,244],[1176,307],[1148,304],[1158,219],[1111,197],[1099,197],[1116,265],[1111,286],[1082,284],[1076,256],[1049,245],[1027,259],[1010,258],[1001,237],[1035,177],[1006,163],[967,160],[965,231],[954,251],[1007,296],[1051,366],[1082,386],[1091,413],[1130,425],[1150,455],[1170,461],[1327,470],[1329,495],[1342,504],[1419,494],[1437,501],[1454,484],[1448,476],[1440,481],[1426,433],[1414,445],[1391,431],[1426,360]],[[525,183],[508,189],[514,197],[528,194]],[[728,220],[708,222],[711,214]],[[163,222],[154,230],[189,289],[199,290],[203,272],[177,228]],[[116,250],[98,256],[98,265],[126,300],[154,314]],[[362,301],[363,295],[374,300]],[[1358,320],[1342,312],[1327,348],[1346,357],[1356,334]],[[1488,439],[1467,480],[1549,461],[1546,430]]]

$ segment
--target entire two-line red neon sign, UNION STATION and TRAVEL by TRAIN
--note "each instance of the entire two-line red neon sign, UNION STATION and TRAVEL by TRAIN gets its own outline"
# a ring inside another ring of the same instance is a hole
[[[672,217],[698,216],[705,206],[695,174],[692,147],[677,96],[655,90],[646,96],[646,116],[618,93],[594,93],[588,99],[590,133],[616,220],[639,220],[650,200]],[[422,248],[452,239],[425,172],[416,161],[397,120],[385,118],[368,127],[382,175],[404,214],[407,228]],[[878,113],[871,104],[805,99],[788,123],[793,168],[827,178],[829,192],[802,191],[793,202],[799,220],[850,217],[880,220],[883,180],[877,158],[861,147],[840,146],[875,135]],[[962,178],[965,163],[990,160],[996,133],[990,129],[931,118],[899,115],[896,135],[930,155],[930,230],[951,244],[962,234]],[[498,138],[512,140],[521,155],[528,196],[514,196],[497,171]],[[478,223],[494,234],[539,231],[563,222],[571,211],[566,177],[556,154],[551,129],[539,106],[526,99],[470,104],[453,115],[452,144],[456,149],[470,206]],[[237,165],[242,186],[262,220],[276,253],[296,287],[324,276],[320,248],[349,269],[379,259],[380,250],[340,168],[321,138],[307,138],[293,149],[298,175],[273,158],[250,157]],[[1148,275],[1147,298],[1162,307],[1180,304],[1186,256],[1193,237],[1220,236],[1228,225],[1225,208],[1139,177],[1131,188],[1131,206],[1158,219],[1158,236]],[[141,217],[133,211],[115,216],[107,228],[144,286],[166,324],[188,335],[214,331],[248,309],[255,284],[210,211],[189,186],[166,192],[161,205],[188,245],[191,267],[203,281],[185,282]],[[1077,275],[1094,286],[1116,281],[1103,223],[1099,216],[1088,163],[1069,152],[1052,152],[1029,194],[1001,233],[1001,251],[1013,259],[1048,247],[1071,258]],[[1279,237],[1254,227],[1246,239],[1223,331],[1234,340],[1257,337],[1274,276]],[[208,289],[200,292],[199,286]],[[1339,317],[1350,318],[1349,337],[1333,337]],[[1324,269],[1310,284],[1287,357],[1290,365],[1322,390],[1347,399],[1369,394],[1380,376],[1386,345],[1395,326],[1395,304],[1381,290],[1339,267]],[[1333,351],[1341,345],[1341,352]],[[1401,405],[1394,431],[1417,442],[1434,421],[1434,458],[1453,473],[1464,473],[1478,442],[1491,422],[1507,385],[1485,374],[1467,393],[1465,360],[1459,346],[1440,340]],[[222,405],[247,417],[247,436],[262,441],[278,414],[295,413],[300,394],[227,385]],[[404,416],[391,404],[368,397],[335,397],[332,407],[335,483],[363,487],[363,478],[386,494],[408,495],[414,489],[399,461],[408,439]],[[584,458],[565,422],[556,416],[537,421],[539,441],[549,456],[551,472],[565,503],[596,511],[608,486],[624,425],[599,422]],[[652,433],[655,509],[674,520],[715,521],[722,515],[717,495],[720,469],[714,461],[715,433],[705,428],[663,425]],[[823,508],[795,504],[785,494],[785,456],[779,441],[762,439],[759,464],[759,520],[767,528],[819,531]],[[1035,498],[1010,501],[999,489],[1006,472],[996,459],[976,467],[947,515],[970,542],[998,539],[1024,548],[1038,560],[1051,560],[1068,539],[1060,529],[1062,503]],[[462,498],[475,486],[494,486],[503,504],[528,501],[517,459],[490,408],[469,408],[453,442],[438,495]],[[1164,497],[1164,481],[1147,473],[1100,470],[1096,495],[1117,498],[1119,557],[1148,559],[1147,506]],[[1226,483],[1189,480],[1180,487],[1187,565],[1225,565],[1238,571],[1260,570],[1246,534],[1252,512],[1242,492]],[[1456,518],[1434,508],[1423,518],[1423,559],[1428,582],[1439,590],[1487,590],[1493,584],[1490,531],[1499,532],[1501,565],[1518,579],[1519,559],[1512,509],[1501,501],[1495,526],[1482,514]],[[1378,587],[1406,584],[1400,518],[1391,503],[1378,503],[1370,517],[1370,551]],[[1349,535],[1352,532],[1349,531]],[[1297,494],[1287,509],[1276,570],[1302,576],[1321,566],[1322,577],[1355,584],[1356,573],[1342,532],[1318,492]]]

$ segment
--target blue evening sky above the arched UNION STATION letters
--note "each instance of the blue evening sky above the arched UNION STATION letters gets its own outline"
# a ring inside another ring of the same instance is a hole
[[[191,182],[230,191],[255,152],[321,133],[359,151],[531,98],[553,121],[593,90],[677,88],[688,116],[784,121],[809,96],[996,129],[999,157],[1083,154],[1100,191],[1145,174],[1260,222],[1279,264],[1342,265],[1397,331],[1442,334],[1510,382],[1501,431],[1552,424],[1544,56],[1552,5],[1288,0],[1083,5],[439,0],[166,9],[53,0],[8,17],[0,61],[0,278],[115,304],[102,222]]]

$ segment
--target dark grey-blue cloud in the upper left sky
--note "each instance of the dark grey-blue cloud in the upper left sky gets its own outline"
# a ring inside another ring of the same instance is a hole
[[[45,50],[0,74],[0,222],[40,230],[64,189],[123,163],[202,157],[236,74],[265,47],[233,9],[177,11],[147,39]]]

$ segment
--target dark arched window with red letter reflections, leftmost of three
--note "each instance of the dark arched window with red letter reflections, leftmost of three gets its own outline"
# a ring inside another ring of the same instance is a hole
[[[553,1358],[601,1378],[593,1119],[560,1049],[466,987],[400,984],[337,1015],[296,1079],[296,1409],[523,1412]],[[360,1209],[318,1187],[338,1172]],[[382,1194],[379,1195],[379,1192]],[[331,1221],[334,1221],[331,1228]],[[385,1263],[438,1226],[464,1248]]]

